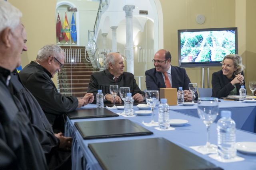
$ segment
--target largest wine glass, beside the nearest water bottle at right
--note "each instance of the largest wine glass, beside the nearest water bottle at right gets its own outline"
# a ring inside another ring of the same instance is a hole
[[[207,128],[206,145],[199,149],[206,153],[216,153],[217,147],[212,146],[209,142],[210,125],[216,119],[219,111],[218,98],[198,98],[197,112],[200,119],[203,120]]]

